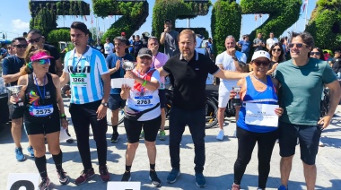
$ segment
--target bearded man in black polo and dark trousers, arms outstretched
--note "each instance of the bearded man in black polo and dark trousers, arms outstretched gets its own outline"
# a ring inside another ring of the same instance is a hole
[[[162,68],[161,76],[173,74],[174,90],[170,112],[170,163],[171,171],[168,183],[174,183],[180,175],[179,144],[185,126],[195,145],[196,183],[206,186],[203,175],[205,165],[205,81],[211,73],[223,79],[239,79],[249,73],[235,73],[220,70],[214,62],[195,51],[196,34],[193,30],[182,30],[179,33],[180,54],[172,56]]]

